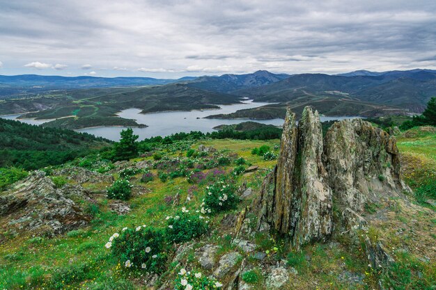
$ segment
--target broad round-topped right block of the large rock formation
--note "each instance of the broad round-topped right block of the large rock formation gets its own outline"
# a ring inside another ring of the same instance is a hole
[[[359,213],[368,201],[398,197],[408,190],[400,180],[395,138],[370,122],[355,119],[333,124],[325,136],[324,161],[341,209]]]

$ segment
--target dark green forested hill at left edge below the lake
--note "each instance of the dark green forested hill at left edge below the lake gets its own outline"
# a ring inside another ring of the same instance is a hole
[[[26,170],[58,165],[111,143],[91,134],[0,118],[0,167]]]

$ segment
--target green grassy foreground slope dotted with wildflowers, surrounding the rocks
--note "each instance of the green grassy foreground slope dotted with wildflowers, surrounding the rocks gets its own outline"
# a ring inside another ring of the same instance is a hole
[[[413,129],[398,139],[398,147],[403,155],[404,175],[406,181],[415,189],[421,186],[413,184],[414,180],[433,182],[436,179],[436,143],[435,132],[430,129]],[[201,153],[199,145],[213,147],[213,151]],[[260,146],[267,146],[277,154],[279,140],[199,140],[180,141],[167,145],[159,145],[148,154],[133,159],[130,163],[109,164],[107,161],[95,162],[79,159],[70,165],[86,166],[98,171],[100,167],[113,168],[106,175],[120,178],[122,169],[138,168],[140,164],[148,162],[147,181],[141,178],[145,174],[138,170],[128,177],[133,186],[133,196],[125,202],[131,211],[125,215],[118,215],[111,210],[114,200],[108,200],[105,189],[110,186],[103,179],[81,184],[89,193],[84,200],[77,200],[81,207],[87,209],[93,216],[91,223],[84,228],[73,230],[54,239],[45,236],[34,237],[32,234],[10,227],[8,220],[0,218],[0,288],[4,289],[153,289],[146,286],[147,277],[135,271],[126,270],[111,255],[111,250],[104,248],[114,232],[121,233],[124,227],[134,229],[138,225],[147,227],[168,228],[166,216],[173,216],[186,207],[194,212],[201,205],[208,193],[213,176],[226,177],[228,182],[234,182],[236,187],[246,183],[254,191],[253,195],[242,200],[237,209],[212,215],[210,233],[201,239],[194,239],[192,248],[182,255],[182,262],[199,268],[196,250],[205,243],[217,245],[219,254],[237,251],[246,257],[252,268],[251,286],[254,289],[265,290],[263,270],[256,268],[256,257],[246,254],[231,244],[233,227],[226,226],[228,216],[238,214],[239,211],[251,204],[256,198],[263,178],[276,163],[275,160],[265,160],[263,157],[251,154]],[[191,157],[187,157],[191,156]],[[225,157],[224,159],[219,159]],[[410,158],[409,158],[410,157]],[[240,160],[244,159],[244,166],[256,165],[259,169],[254,172],[233,175]],[[207,160],[209,163],[207,163]],[[239,161],[238,161],[239,160]],[[416,163],[416,160],[419,162]],[[201,168],[204,177],[189,182],[187,177],[181,177],[178,164],[192,162],[192,166]],[[428,166],[422,166],[428,163]],[[207,168],[201,167],[209,164]],[[433,167],[432,167],[433,166]],[[432,169],[433,168],[433,169]],[[432,171],[433,170],[433,171]],[[101,170],[100,170],[101,171]],[[103,172],[103,171],[101,171]],[[168,177],[163,182],[162,172]],[[432,173],[433,172],[433,173]],[[233,176],[233,177],[232,177]],[[77,185],[77,181],[69,175],[61,175],[68,184]],[[54,178],[54,177],[52,177]],[[56,175],[59,178],[59,175]],[[233,180],[233,181],[232,181]],[[189,198],[188,198],[189,197]],[[179,200],[179,202],[175,202]],[[430,252],[435,243],[435,220],[428,215],[433,209],[420,207],[414,197],[410,202],[416,204],[415,211],[402,210],[396,200],[389,200],[384,204],[376,204],[383,211],[389,213],[389,219],[380,220],[382,232],[371,229],[371,239],[389,239],[392,249],[391,255],[398,261],[398,268],[389,272],[389,279],[400,283],[404,288],[398,289],[431,289],[435,283],[435,257]],[[430,207],[430,205],[428,205]],[[373,209],[368,209],[368,215]],[[227,217],[227,218],[226,218]],[[400,234],[398,234],[400,231]],[[377,235],[377,237],[375,236]],[[377,269],[368,268],[362,248],[356,248],[346,239],[338,239],[331,243],[315,243],[302,249],[302,252],[289,252],[286,243],[281,240],[256,236],[256,253],[264,253],[265,259],[277,259],[277,263],[284,259],[288,266],[295,269],[292,279],[285,290],[289,289],[377,289],[377,277],[384,275]],[[171,250],[175,251],[178,247]],[[161,274],[162,280],[177,276],[180,268],[176,263],[168,262],[169,271]],[[209,275],[210,273],[203,273]],[[384,276],[383,276],[384,277]],[[248,280],[247,276],[247,280]],[[173,279],[171,279],[173,280]],[[224,282],[224,281],[221,281]]]

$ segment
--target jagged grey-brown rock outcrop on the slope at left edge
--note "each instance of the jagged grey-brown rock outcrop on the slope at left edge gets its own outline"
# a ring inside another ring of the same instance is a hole
[[[70,198],[88,199],[81,186],[56,188],[45,172],[32,172],[0,199],[0,216],[11,216],[8,225],[48,235],[61,234],[91,220]]]

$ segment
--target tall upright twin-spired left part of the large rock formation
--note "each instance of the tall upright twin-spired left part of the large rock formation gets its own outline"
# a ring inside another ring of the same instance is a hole
[[[277,166],[260,193],[258,229],[269,223],[297,248],[325,240],[332,232],[332,190],[322,164],[322,129],[318,111],[304,108],[298,127],[288,111]]]

